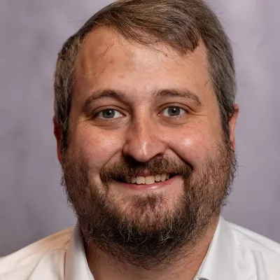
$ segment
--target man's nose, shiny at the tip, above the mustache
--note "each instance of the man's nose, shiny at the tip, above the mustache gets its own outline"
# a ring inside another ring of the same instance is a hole
[[[165,154],[164,134],[152,120],[141,119],[131,123],[125,135],[123,154],[138,162],[148,162]]]

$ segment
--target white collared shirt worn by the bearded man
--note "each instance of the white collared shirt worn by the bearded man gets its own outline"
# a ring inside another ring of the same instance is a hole
[[[0,280],[94,280],[78,225],[0,258]],[[195,280],[279,280],[280,245],[222,217]]]

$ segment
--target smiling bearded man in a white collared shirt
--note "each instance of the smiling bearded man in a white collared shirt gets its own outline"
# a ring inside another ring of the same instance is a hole
[[[235,68],[201,0],[123,0],[55,71],[62,185],[78,218],[0,279],[280,279],[280,246],[220,216],[237,162]]]

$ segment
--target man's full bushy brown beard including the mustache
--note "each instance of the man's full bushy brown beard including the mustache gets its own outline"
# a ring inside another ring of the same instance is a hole
[[[137,162],[126,157],[102,167],[97,181],[90,176],[88,162],[65,152],[61,184],[89,246],[96,246],[120,265],[162,269],[192,253],[226,204],[236,167],[230,141],[224,140],[213,148],[200,170],[175,158]],[[172,207],[167,205],[166,192],[124,195],[116,201],[110,192],[112,180],[144,170],[152,174],[172,170],[182,176],[182,192]]]

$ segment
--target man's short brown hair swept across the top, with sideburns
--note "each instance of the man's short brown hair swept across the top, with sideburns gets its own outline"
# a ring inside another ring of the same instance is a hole
[[[96,27],[116,29],[127,40],[143,45],[167,43],[179,53],[193,52],[200,40],[207,48],[211,82],[221,111],[223,130],[234,113],[236,94],[232,48],[221,22],[202,0],[120,0],[92,16],[58,54],[55,70],[55,122],[67,146],[75,61],[84,38]]]

